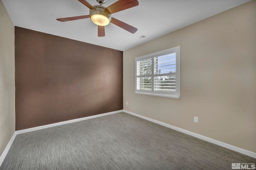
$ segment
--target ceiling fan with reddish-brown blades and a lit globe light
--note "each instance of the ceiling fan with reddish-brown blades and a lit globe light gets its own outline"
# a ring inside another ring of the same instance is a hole
[[[90,18],[93,23],[98,25],[98,37],[105,36],[105,26],[108,25],[110,22],[117,25],[118,27],[121,27],[122,29],[125,29],[130,33],[135,33],[138,30],[137,28],[127,23],[124,23],[120,20],[117,20],[116,18],[113,18],[111,16],[111,14],[114,14],[116,12],[120,12],[122,10],[129,9],[134,6],[138,6],[139,5],[138,0],[118,0],[114,4],[108,6],[107,8],[102,6],[102,4],[106,2],[106,0],[96,0],[100,5],[95,5],[95,6],[92,6],[86,0],[78,0],[78,1],[90,9],[89,15],[75,16],[75,17],[68,17],[68,18],[58,18],[56,20],[65,22],[65,21]]]

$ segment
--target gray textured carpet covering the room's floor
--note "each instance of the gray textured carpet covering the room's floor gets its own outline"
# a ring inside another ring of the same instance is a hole
[[[256,159],[127,113],[19,134],[0,170],[230,170]]]

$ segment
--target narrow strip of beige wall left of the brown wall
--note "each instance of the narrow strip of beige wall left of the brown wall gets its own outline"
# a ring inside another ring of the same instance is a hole
[[[15,131],[14,25],[0,0],[0,155]]]

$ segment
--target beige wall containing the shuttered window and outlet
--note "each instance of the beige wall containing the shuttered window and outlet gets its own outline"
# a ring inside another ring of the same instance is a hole
[[[180,99],[134,94],[135,58],[176,46]],[[256,0],[124,51],[123,78],[125,110],[256,152]]]

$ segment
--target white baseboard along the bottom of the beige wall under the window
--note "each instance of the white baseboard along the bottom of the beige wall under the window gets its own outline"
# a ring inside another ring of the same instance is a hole
[[[132,113],[132,112],[130,112],[130,111],[126,111],[126,110],[123,110],[123,111],[124,111],[125,113],[129,113],[129,114],[131,114],[131,115],[140,117],[140,118],[142,118],[142,119],[146,119],[146,120],[148,120],[148,121],[152,121],[152,122],[157,123],[157,124],[159,124],[159,125],[168,127],[168,128],[170,128],[170,129],[174,129],[174,130],[176,130],[176,131],[179,131],[179,132],[185,133],[185,134],[187,134],[187,135],[190,135],[190,136],[193,136],[193,137],[202,139],[202,140],[204,140],[204,141],[207,141],[207,142],[210,142],[210,143],[219,145],[219,146],[221,146],[221,147],[224,147],[224,148],[227,148],[227,149],[230,149],[230,150],[234,150],[234,151],[239,152],[239,153],[241,153],[241,154],[245,154],[245,155],[250,156],[250,157],[252,157],[252,158],[256,158],[256,153],[255,153],[255,152],[252,152],[252,151],[250,151],[250,150],[245,150],[245,149],[242,149],[242,148],[238,148],[238,147],[235,147],[235,146],[233,146],[233,145],[229,145],[229,144],[227,144],[227,143],[220,142],[220,141],[217,141],[217,140],[215,140],[215,139],[212,139],[212,138],[209,138],[209,137],[205,137],[205,136],[203,136],[203,135],[199,135],[199,134],[197,134],[197,133],[190,132],[190,131],[187,131],[187,130],[185,130],[185,129],[181,129],[181,128],[179,128],[179,127],[175,127],[175,126],[169,125],[169,124],[167,124],[167,123],[163,123],[163,122],[161,122],[161,121],[157,121],[157,120],[150,119],[150,118],[145,117],[145,116],[142,116],[142,115],[138,115],[138,114],[136,114],[136,113]]]

